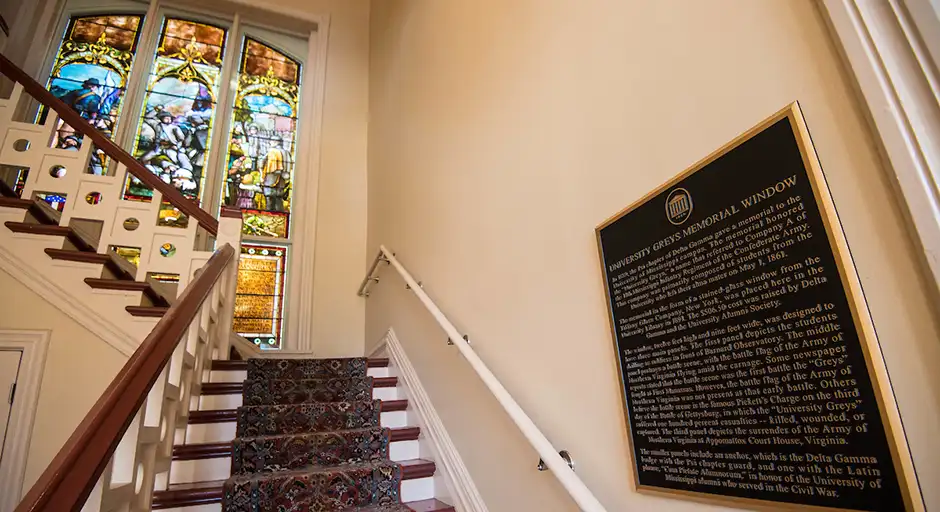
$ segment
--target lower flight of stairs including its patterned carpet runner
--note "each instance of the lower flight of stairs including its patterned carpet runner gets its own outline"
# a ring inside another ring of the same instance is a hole
[[[213,361],[153,510],[447,512],[389,360]]]

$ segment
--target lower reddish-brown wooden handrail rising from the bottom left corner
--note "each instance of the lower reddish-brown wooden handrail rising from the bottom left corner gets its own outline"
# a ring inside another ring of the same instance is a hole
[[[225,244],[209,258],[111,381],[15,512],[81,510],[150,388],[234,255],[235,249]]]

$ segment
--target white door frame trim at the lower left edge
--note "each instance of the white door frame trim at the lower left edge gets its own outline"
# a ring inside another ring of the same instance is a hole
[[[0,330],[0,349],[23,353],[16,380],[16,398],[10,410],[9,430],[3,463],[0,464],[0,511],[12,511],[23,497],[23,477],[29,453],[33,420],[39,403],[39,388],[46,365],[51,332],[47,330]]]

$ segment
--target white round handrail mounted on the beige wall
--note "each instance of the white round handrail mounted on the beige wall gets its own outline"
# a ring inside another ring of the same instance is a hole
[[[395,267],[395,270],[401,274],[405,283],[408,284],[408,288],[414,292],[418,300],[420,300],[421,303],[424,304],[424,307],[431,313],[431,316],[437,320],[438,325],[444,329],[444,332],[446,332],[447,336],[453,341],[457,350],[460,350],[464,359],[466,359],[467,362],[470,363],[470,366],[473,367],[474,371],[477,372],[477,375],[480,376],[480,379],[486,384],[486,387],[489,388],[490,392],[496,397],[496,400],[499,401],[503,409],[506,410],[506,413],[509,414],[509,417],[512,418],[512,421],[515,422],[519,430],[522,431],[522,435],[529,440],[529,443],[532,444],[535,451],[538,452],[542,460],[545,461],[548,468],[552,470],[555,477],[561,482],[561,485],[568,491],[568,494],[571,495],[578,506],[581,507],[581,510],[587,512],[606,512],[606,509],[601,505],[601,502],[597,500],[597,497],[595,497],[590,489],[584,485],[584,482],[578,478],[578,475],[568,466],[568,463],[558,455],[558,451],[555,450],[552,443],[549,442],[545,435],[542,434],[542,431],[535,426],[535,423],[533,423],[532,419],[519,407],[519,404],[513,400],[509,392],[506,391],[506,388],[504,388],[496,376],[493,375],[493,372],[486,367],[480,357],[477,356],[476,352],[470,348],[470,344],[464,341],[463,335],[454,327],[454,324],[444,316],[440,308],[438,308],[437,305],[434,304],[434,301],[428,297],[428,294],[424,293],[424,290],[421,289],[421,285],[415,281],[408,270],[395,258],[395,254],[389,251],[384,245],[380,246],[379,249],[380,253],[376,256],[376,260],[380,260],[384,255],[389,264]],[[374,270],[375,266],[373,266],[372,269]],[[373,271],[370,270],[364,284],[368,284],[369,278],[373,277],[372,272]],[[365,286],[363,286],[363,288],[365,288]],[[360,295],[365,295],[365,293],[365,290],[360,290]]]

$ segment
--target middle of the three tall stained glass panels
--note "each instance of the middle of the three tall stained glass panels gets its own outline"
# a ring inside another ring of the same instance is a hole
[[[134,157],[184,197],[200,201],[209,135],[221,82],[226,31],[205,23],[167,18],[147,80]],[[153,192],[128,176],[125,199],[149,201]],[[172,205],[160,208],[160,225],[185,227]]]

